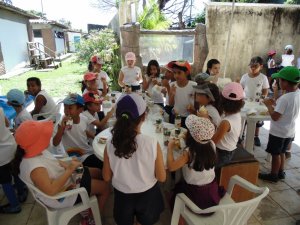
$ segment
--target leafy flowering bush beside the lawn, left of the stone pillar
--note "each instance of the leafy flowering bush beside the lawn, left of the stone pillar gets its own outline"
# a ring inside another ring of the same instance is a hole
[[[91,31],[86,39],[82,39],[77,46],[76,61],[88,63],[91,56],[99,55],[104,60],[102,66],[111,78],[110,87],[112,90],[120,90],[118,76],[121,69],[120,45],[116,34],[110,29]]]

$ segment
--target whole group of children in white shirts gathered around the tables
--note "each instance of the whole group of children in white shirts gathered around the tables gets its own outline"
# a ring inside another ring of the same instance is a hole
[[[295,118],[300,107],[297,88],[300,73],[297,68],[286,66],[272,74],[284,91],[275,103],[267,98],[269,83],[261,73],[261,57],[251,59],[249,72],[242,76],[240,83],[228,83],[223,90],[217,86],[220,62],[216,59],[208,61],[206,73],[197,75],[195,81],[191,80],[191,66],[187,61],[169,62],[164,66],[165,73],[161,76],[159,63],[151,60],[143,76],[141,69],[135,66],[134,53],[127,53],[125,60],[127,65],[121,69],[118,82],[127,91],[131,89],[131,93],[124,93],[107,115],[101,113],[100,106],[109,90],[109,78],[101,70],[103,62],[98,56],[91,58],[90,72],[84,75],[83,97],[69,94],[63,100],[64,116],[55,128],[51,122],[32,121],[30,117],[55,107],[51,97],[41,89],[38,78],[27,80],[28,92],[35,96],[35,108],[31,114],[26,113],[22,106],[23,93],[12,90],[15,98],[11,98],[9,92],[8,103],[16,107],[17,117],[26,119],[15,121],[16,128],[19,127],[15,139],[1,123],[0,130],[5,130],[7,135],[5,140],[1,136],[3,140],[0,145],[9,143],[5,145],[8,151],[3,153],[7,160],[0,164],[1,184],[11,185],[11,180],[2,180],[2,170],[10,171],[12,152],[17,152],[13,163],[14,174],[20,174],[23,180],[48,195],[74,188],[70,180],[72,173],[83,165],[80,186],[85,187],[89,195],[97,196],[101,211],[110,194],[108,181],[112,181],[117,224],[133,224],[135,217],[140,224],[154,224],[164,208],[158,182],[165,181],[166,170],[159,143],[141,132],[141,125],[146,120],[147,104],[142,95],[135,92],[142,90],[155,104],[164,108],[170,116],[170,122],[174,123],[175,116],[180,116],[181,126],[188,131],[186,148],[179,158],[175,159],[173,155],[174,141],[168,144],[168,170],[182,168],[184,178],[184,182],[176,184],[173,200],[177,193],[184,192],[200,208],[219,203],[224,190],[216,182],[215,168],[229,163],[237,149],[242,128],[240,111],[245,99],[265,99],[263,102],[272,118],[267,146],[267,151],[272,154],[272,169],[271,173],[260,174],[259,177],[272,182],[284,179],[284,153],[294,137]],[[114,113],[116,123],[111,130],[111,139],[107,140],[102,162],[93,154],[91,141]],[[23,114],[26,116],[21,116]],[[258,123],[259,126],[261,123]],[[260,144],[258,141],[256,145]],[[76,154],[77,159],[65,163],[54,158],[49,152],[58,145],[63,145],[68,154]],[[100,179],[101,170],[103,180]],[[9,207],[16,206],[13,200],[9,201]],[[62,202],[49,199],[42,201],[51,207],[71,207],[80,199],[73,197]],[[2,207],[0,212],[8,209],[7,206]]]

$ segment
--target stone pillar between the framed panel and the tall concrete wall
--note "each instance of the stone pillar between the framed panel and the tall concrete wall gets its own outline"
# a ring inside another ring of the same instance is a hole
[[[194,40],[194,74],[202,72],[207,55],[208,44],[206,38],[206,26],[204,24],[198,23],[195,28]]]

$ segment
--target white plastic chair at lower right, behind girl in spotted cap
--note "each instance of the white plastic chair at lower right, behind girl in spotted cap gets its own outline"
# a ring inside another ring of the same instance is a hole
[[[235,185],[239,185],[258,195],[250,200],[235,203],[231,199]],[[202,210],[185,194],[177,194],[171,225],[178,225],[180,215],[189,225],[245,225],[260,201],[268,193],[269,189],[267,187],[257,187],[240,176],[235,175],[230,178],[227,193],[217,206]],[[213,212],[214,214],[210,216],[200,215]]]

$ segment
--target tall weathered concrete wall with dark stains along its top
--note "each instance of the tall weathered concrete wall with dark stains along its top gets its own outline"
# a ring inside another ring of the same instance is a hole
[[[210,3],[206,13],[209,46],[206,61],[219,59],[222,75],[231,6],[231,3]],[[300,57],[300,6],[236,4],[226,77],[235,78],[246,73],[250,58],[259,55],[266,59],[270,49],[277,51],[277,59],[280,60],[287,44],[292,44],[295,56]]]

